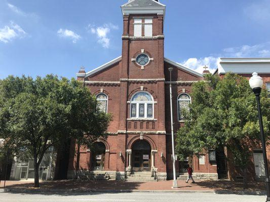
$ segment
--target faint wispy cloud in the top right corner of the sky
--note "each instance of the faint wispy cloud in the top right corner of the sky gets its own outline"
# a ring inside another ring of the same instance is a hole
[[[255,1],[244,9],[244,13],[256,23],[270,22],[270,0]]]

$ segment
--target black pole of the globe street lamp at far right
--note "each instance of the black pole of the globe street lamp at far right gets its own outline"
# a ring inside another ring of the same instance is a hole
[[[264,170],[265,170],[265,184],[267,191],[266,201],[270,201],[270,180],[269,180],[269,171],[268,171],[268,161],[266,156],[266,146],[265,146],[265,138],[263,131],[263,123],[262,123],[262,115],[261,115],[261,106],[260,106],[260,94],[255,93],[259,114],[259,124],[260,124],[260,135],[261,135],[261,145],[262,145],[262,154],[263,154],[263,162],[264,162]]]

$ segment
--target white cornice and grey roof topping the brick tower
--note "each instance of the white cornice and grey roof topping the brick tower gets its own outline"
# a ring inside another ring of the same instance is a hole
[[[161,14],[165,16],[166,6],[159,0],[129,0],[121,6],[123,15],[129,14]]]

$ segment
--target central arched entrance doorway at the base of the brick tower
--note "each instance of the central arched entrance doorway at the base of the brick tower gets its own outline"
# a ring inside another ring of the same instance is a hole
[[[145,140],[138,140],[132,146],[132,170],[151,171],[151,146]]]

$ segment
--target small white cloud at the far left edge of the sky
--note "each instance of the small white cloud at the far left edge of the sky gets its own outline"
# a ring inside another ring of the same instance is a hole
[[[8,43],[14,38],[22,38],[26,35],[26,32],[13,21],[10,25],[6,25],[4,28],[0,29],[0,41]]]

